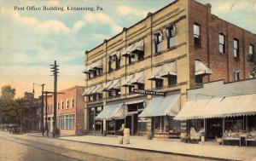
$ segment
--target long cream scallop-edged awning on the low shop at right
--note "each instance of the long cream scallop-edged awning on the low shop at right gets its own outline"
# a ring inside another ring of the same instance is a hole
[[[256,94],[187,101],[174,119],[226,118],[256,114]]]

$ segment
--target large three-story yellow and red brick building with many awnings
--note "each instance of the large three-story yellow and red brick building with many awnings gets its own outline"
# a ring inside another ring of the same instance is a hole
[[[210,4],[177,0],[85,52],[85,130],[170,134],[187,89],[253,78],[256,35],[211,14]],[[138,94],[138,90],[165,96]],[[137,92],[135,92],[137,91]]]

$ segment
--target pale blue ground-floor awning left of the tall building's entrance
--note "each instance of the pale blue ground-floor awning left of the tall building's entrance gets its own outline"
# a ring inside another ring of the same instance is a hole
[[[96,116],[96,120],[124,119],[127,109],[124,103],[107,105],[102,112]]]

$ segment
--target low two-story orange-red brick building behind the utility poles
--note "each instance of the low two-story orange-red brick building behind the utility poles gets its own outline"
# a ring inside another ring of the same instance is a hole
[[[84,133],[84,98],[82,96],[84,87],[74,86],[61,90],[57,95],[57,127],[61,134],[81,135]],[[44,98],[44,105],[46,99]],[[48,120],[48,129],[53,130],[54,99],[52,95],[47,96],[47,118],[46,106],[44,106],[44,128]]]

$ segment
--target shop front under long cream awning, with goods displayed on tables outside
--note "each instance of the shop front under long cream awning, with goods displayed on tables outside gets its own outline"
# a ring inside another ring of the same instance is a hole
[[[187,101],[175,119],[187,121],[187,135],[191,129],[203,131],[208,140],[224,144],[256,141],[256,94],[208,97]],[[229,143],[227,143],[229,142]],[[244,143],[245,144],[245,143]]]

